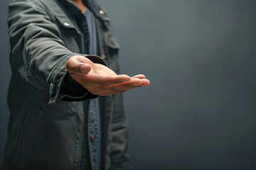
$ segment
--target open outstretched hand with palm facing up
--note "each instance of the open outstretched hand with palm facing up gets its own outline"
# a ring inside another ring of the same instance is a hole
[[[149,86],[150,81],[142,74],[129,77],[125,74],[117,75],[105,65],[91,62],[84,56],[70,57],[66,68],[75,81],[78,81],[90,93],[107,96],[120,94],[139,86]]]

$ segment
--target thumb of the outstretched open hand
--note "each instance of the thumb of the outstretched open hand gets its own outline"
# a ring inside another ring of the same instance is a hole
[[[70,74],[88,74],[91,71],[92,67],[86,63],[85,57],[82,57],[82,60],[80,57],[82,56],[70,57],[66,63],[66,68]]]

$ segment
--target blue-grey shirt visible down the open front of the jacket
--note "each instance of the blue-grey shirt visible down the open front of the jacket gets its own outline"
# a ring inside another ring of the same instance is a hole
[[[80,28],[82,33],[82,53],[87,53],[90,55],[96,55],[97,54],[97,35],[96,35],[96,28],[95,28],[95,16],[90,11],[89,8],[87,8],[87,11],[84,13],[85,20],[82,20]],[[86,21],[86,22],[85,22]],[[84,130],[84,138],[82,140],[82,157],[81,157],[81,164],[80,164],[80,170],[86,170],[87,164],[86,159],[88,159],[87,155],[87,130],[88,127],[95,127],[95,129],[91,128],[92,132],[95,133],[95,142],[90,143],[90,145],[95,145],[96,154],[93,154],[94,158],[91,158],[95,160],[95,162],[92,162],[92,169],[100,170],[101,169],[101,157],[102,157],[102,142],[101,142],[101,130],[100,130],[100,111],[99,111],[99,104],[98,99],[94,98],[90,101],[85,101],[87,104],[84,104],[84,113],[88,113],[90,116],[87,116],[88,119],[85,119],[87,121],[87,127],[85,126]],[[89,108],[89,112],[87,112],[87,109]],[[91,125],[91,123],[94,123],[95,125]],[[90,133],[90,132],[89,132]],[[89,146],[90,147],[90,146]]]

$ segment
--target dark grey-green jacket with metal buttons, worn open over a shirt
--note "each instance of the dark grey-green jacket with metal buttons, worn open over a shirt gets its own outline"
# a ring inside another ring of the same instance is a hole
[[[78,21],[82,13],[72,1],[14,0],[9,6],[12,77],[5,170],[79,167],[85,125],[82,101],[97,96],[75,81],[63,84],[68,77],[65,63],[73,55],[84,55],[119,72],[119,45],[112,35],[110,19],[95,0],[86,3],[96,16],[97,51],[101,57],[80,54]],[[102,169],[131,169],[122,94],[100,96],[99,104]],[[90,146],[93,131],[89,131]],[[90,155],[95,154],[95,148],[88,148]],[[90,164],[94,169],[94,160],[90,159]]]

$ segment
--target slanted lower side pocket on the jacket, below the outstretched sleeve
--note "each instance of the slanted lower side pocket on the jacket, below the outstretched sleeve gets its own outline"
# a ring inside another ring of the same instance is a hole
[[[33,158],[33,147],[43,118],[43,111],[37,106],[29,105],[26,112],[14,153],[14,166],[21,169],[27,169]]]

